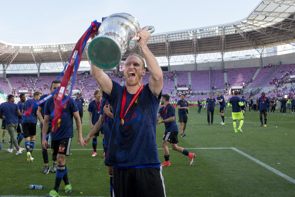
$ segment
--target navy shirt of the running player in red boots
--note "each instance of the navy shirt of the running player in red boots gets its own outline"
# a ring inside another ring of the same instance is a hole
[[[167,104],[167,106],[165,107],[165,111],[164,110],[164,106],[161,107],[158,111],[158,113],[162,116],[163,120],[166,120],[167,118],[170,118],[171,116],[175,117],[175,108],[171,105],[171,104]],[[178,132],[178,126],[176,124],[176,118],[174,119],[174,121],[169,122],[169,123],[164,123],[165,124],[165,133],[168,132]]]

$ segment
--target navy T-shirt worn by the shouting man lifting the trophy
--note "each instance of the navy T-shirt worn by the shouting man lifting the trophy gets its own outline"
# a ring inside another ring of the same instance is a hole
[[[114,81],[112,81],[111,95],[103,92],[103,97],[111,104],[114,115],[105,163],[115,167],[160,164],[155,134],[162,92],[157,98],[150,90],[148,83],[144,85],[137,103],[130,107],[121,126],[120,111],[123,93],[124,87]],[[126,90],[124,113],[133,96]]]

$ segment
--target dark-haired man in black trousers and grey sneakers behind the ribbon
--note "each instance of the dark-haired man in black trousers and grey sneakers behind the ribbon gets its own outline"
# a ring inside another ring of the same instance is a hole
[[[49,94],[52,93],[52,84],[53,83],[61,83],[60,80],[54,80],[52,83],[51,83],[51,86],[50,86],[50,92]],[[42,100],[43,98],[47,97],[48,95],[45,94],[45,95],[42,95],[40,97],[39,100]],[[38,118],[40,120],[40,133],[41,133],[41,148],[42,148],[42,157],[43,157],[43,162],[44,162],[44,168],[43,168],[43,174],[48,174],[49,173],[49,170],[50,170],[50,167],[48,166],[48,163],[49,163],[49,159],[48,159],[48,153],[47,153],[47,150],[45,148],[43,148],[42,146],[42,141],[43,141],[43,122],[44,122],[44,106],[45,106],[45,103],[46,102],[43,102],[41,103],[39,106],[38,106]],[[50,133],[51,131],[51,128],[52,128],[52,118],[50,118],[49,120],[49,123],[48,123],[48,130],[47,130],[47,133]],[[46,140],[48,141],[48,138],[49,136],[46,138]],[[48,144],[48,143],[47,143]],[[53,164],[52,164],[52,172],[56,172],[57,171],[57,159],[56,159],[56,156],[53,154],[52,155],[52,160],[53,160]]]

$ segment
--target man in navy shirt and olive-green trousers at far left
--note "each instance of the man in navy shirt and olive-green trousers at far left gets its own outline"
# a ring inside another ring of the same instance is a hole
[[[3,113],[5,113],[5,117],[2,116]],[[21,149],[19,149],[17,139],[15,137],[15,131],[17,130],[18,125],[18,116],[22,116],[22,113],[20,113],[19,110],[19,106],[14,103],[14,96],[8,95],[8,101],[0,107],[0,118],[6,119],[6,128],[11,139],[11,144],[7,151],[12,153],[14,145],[17,150],[16,155],[22,154],[22,151]]]

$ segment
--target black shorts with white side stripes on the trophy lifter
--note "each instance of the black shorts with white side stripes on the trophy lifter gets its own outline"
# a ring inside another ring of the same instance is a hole
[[[113,168],[114,196],[165,196],[162,167]]]

